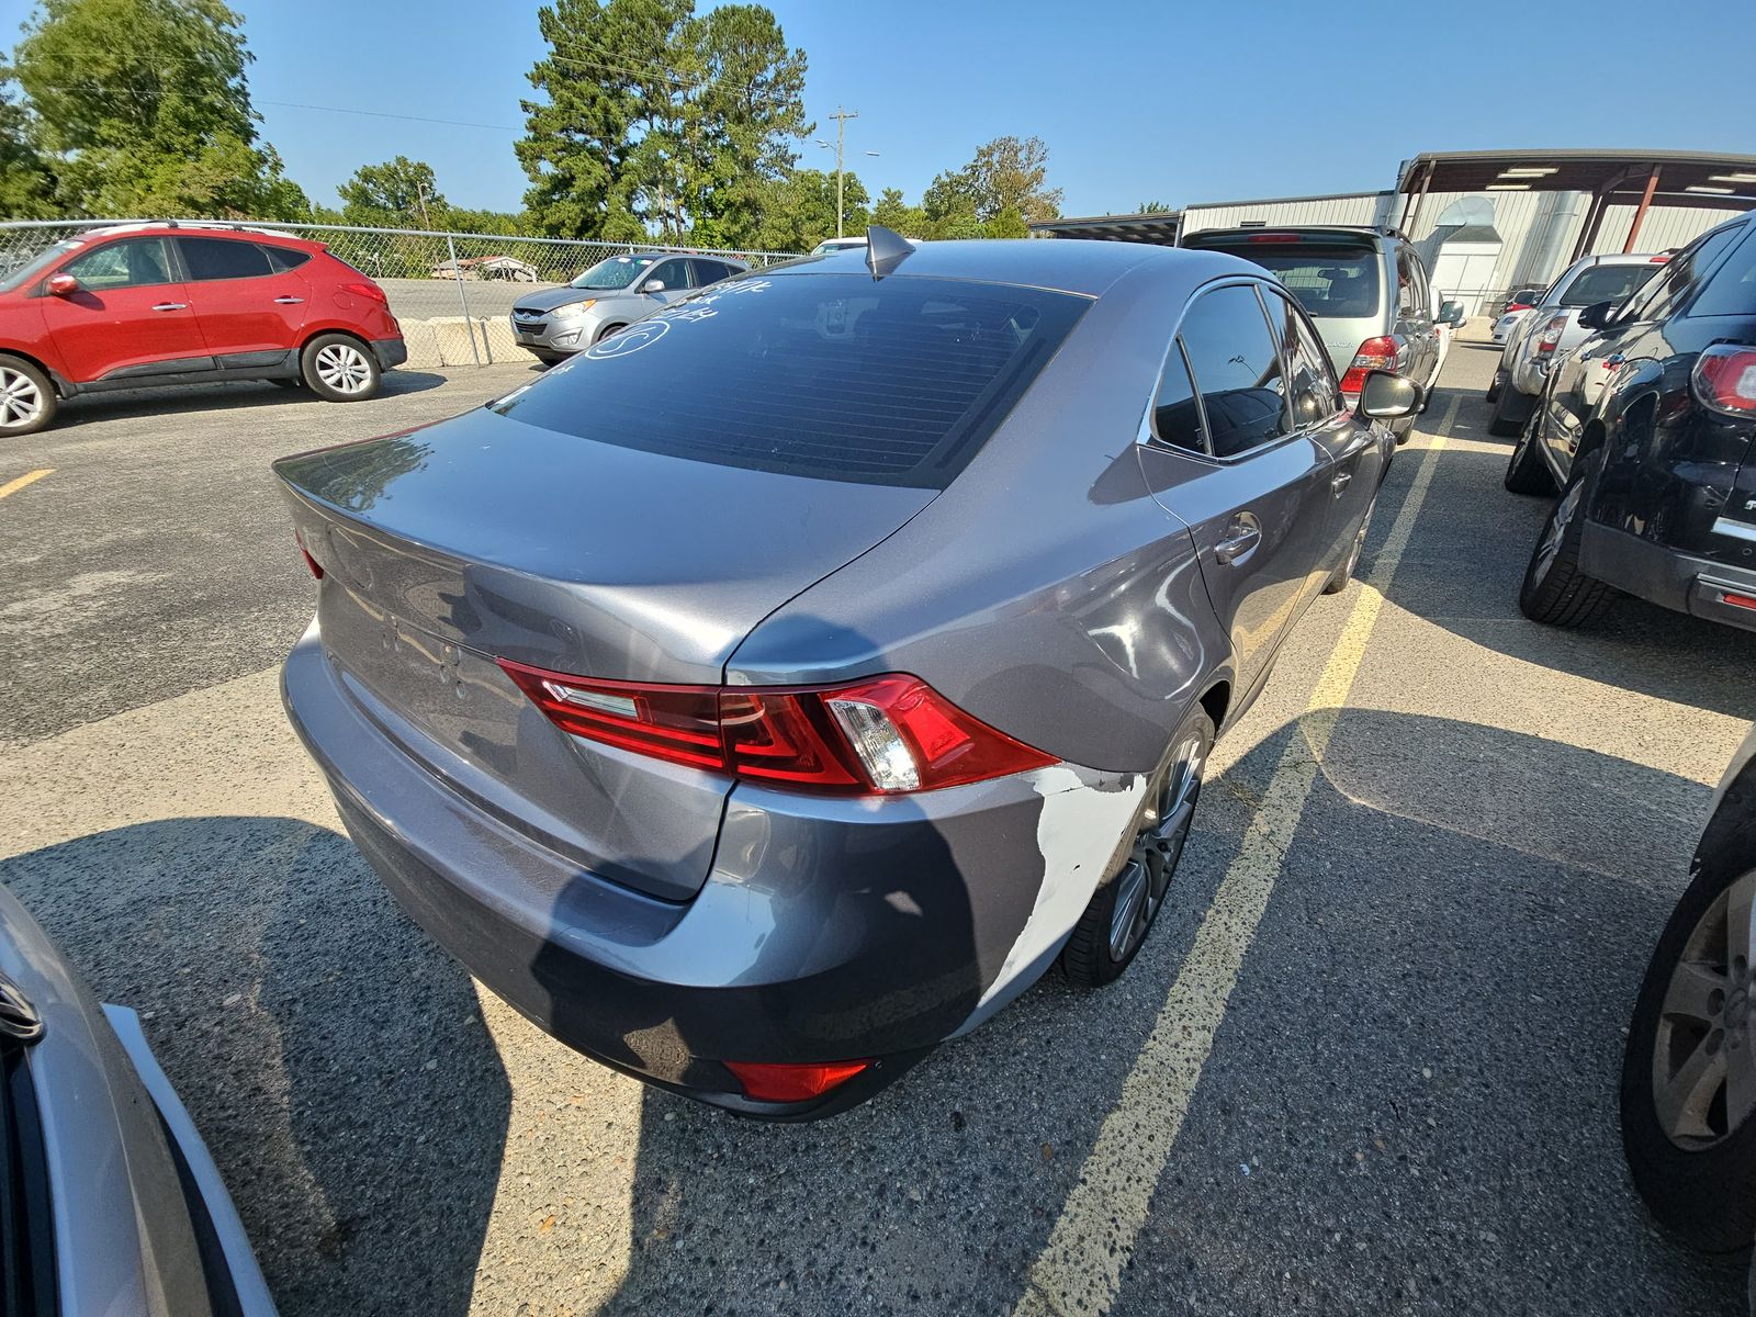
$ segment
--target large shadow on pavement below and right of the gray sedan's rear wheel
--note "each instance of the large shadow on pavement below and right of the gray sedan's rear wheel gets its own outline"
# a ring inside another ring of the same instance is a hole
[[[1296,736],[1208,783],[1108,989],[1050,971],[817,1124],[646,1092],[629,1271],[597,1312],[1011,1310]],[[1730,1317],[1737,1282],[1647,1222],[1616,1115],[1709,788],[1356,709],[1322,766],[1108,1310]]]

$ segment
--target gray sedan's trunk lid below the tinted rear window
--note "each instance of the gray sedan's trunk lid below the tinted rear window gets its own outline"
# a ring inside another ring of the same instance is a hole
[[[730,778],[560,732],[495,664],[715,685],[774,608],[934,492],[722,467],[479,409],[276,464],[323,646],[406,753],[581,867],[706,878]]]

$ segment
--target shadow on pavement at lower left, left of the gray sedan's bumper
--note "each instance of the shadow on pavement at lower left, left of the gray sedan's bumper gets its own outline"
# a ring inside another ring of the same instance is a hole
[[[469,976],[346,838],[167,818],[0,880],[142,1013],[283,1313],[469,1312],[511,1089]]]

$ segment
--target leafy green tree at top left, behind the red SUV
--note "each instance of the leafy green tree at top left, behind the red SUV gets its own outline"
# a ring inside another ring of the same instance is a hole
[[[63,214],[309,214],[256,133],[242,21],[221,0],[42,0],[14,51]]]

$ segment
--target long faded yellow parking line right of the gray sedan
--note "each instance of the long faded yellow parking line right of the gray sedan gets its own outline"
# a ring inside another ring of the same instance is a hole
[[[1426,450],[1396,523],[1373,560],[1371,572],[1363,579],[1342,637],[1312,690],[1298,723],[1301,734],[1280,755],[1238,857],[1196,931],[1189,959],[1171,983],[1134,1068],[1122,1082],[1122,1098],[1105,1117],[1098,1143],[1080,1168],[1048,1245],[1031,1266],[1029,1287],[1013,1310],[1017,1317],[1099,1317],[1120,1291],[1122,1271],[1141,1226],[1147,1224],[1152,1194],[1184,1117],[1189,1115],[1201,1066],[1226,1018],[1226,1001],[1305,815],[1336,715],[1354,688],[1366,643],[1384,606],[1384,590],[1396,574],[1415,518],[1433,486],[1445,435],[1457,420],[1457,402],[1454,397],[1445,409],[1440,434]]]

